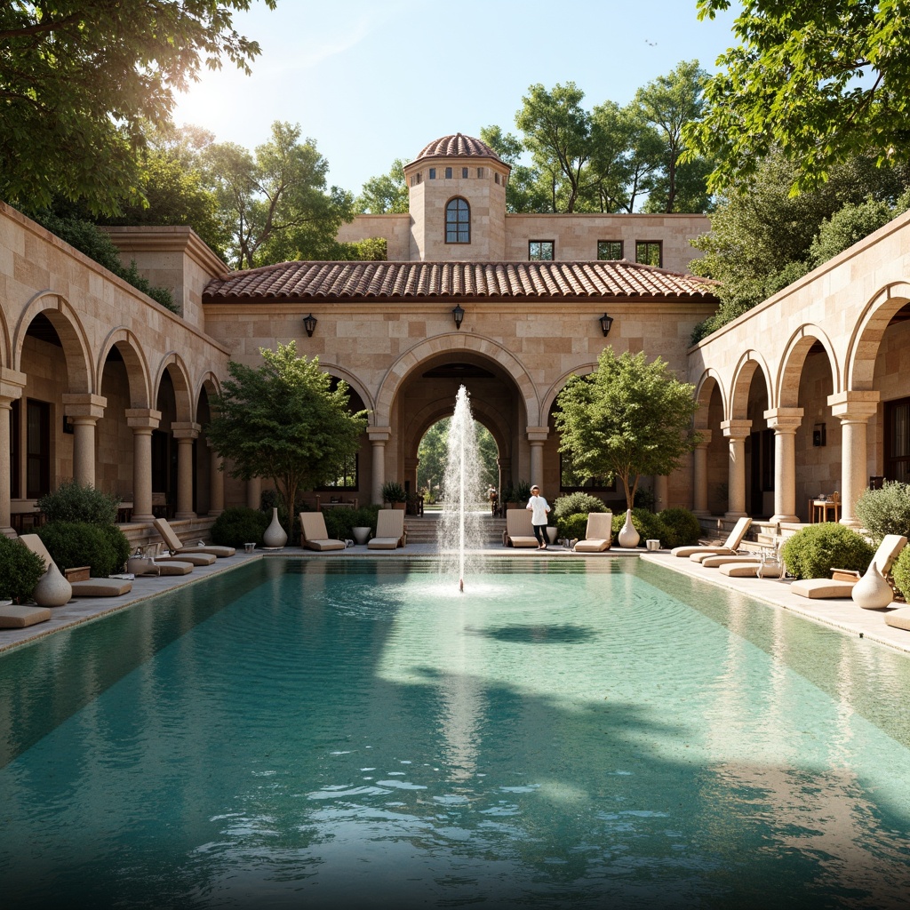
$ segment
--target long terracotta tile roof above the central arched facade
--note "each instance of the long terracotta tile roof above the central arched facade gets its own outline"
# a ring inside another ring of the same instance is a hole
[[[282,262],[208,282],[207,303],[302,299],[640,298],[713,301],[715,282],[620,261]]]

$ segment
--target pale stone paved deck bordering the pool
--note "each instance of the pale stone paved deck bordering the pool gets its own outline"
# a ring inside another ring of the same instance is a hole
[[[885,645],[886,647],[910,654],[910,632],[892,628],[885,624],[883,610],[863,610],[857,607],[852,600],[840,599],[831,601],[807,600],[804,597],[791,593],[788,581],[777,581],[758,578],[729,578],[715,569],[706,569],[700,563],[687,559],[678,559],[669,551],[642,551],[623,550],[613,547],[603,553],[573,553],[560,546],[552,546],[546,551],[535,548],[513,549],[511,547],[490,546],[482,551],[484,557],[511,559],[571,559],[571,560],[600,560],[639,558],[654,562],[672,571],[682,572],[693,578],[700,579],[728,591],[736,591],[755,601],[763,602],[777,609],[789,610],[800,616],[821,622],[824,625],[834,626],[846,634],[864,638],[870,642]],[[250,560],[303,558],[303,559],[357,559],[369,556],[378,559],[407,559],[420,556],[435,556],[438,548],[435,544],[415,543],[405,549],[399,550],[368,550],[366,546],[350,547],[340,552],[318,553],[304,551],[297,547],[286,547],[275,552],[243,553],[229,559],[219,559],[210,566],[197,566],[189,575],[167,577],[143,577],[133,582],[133,590],[122,597],[82,597],[73,600],[63,607],[56,607],[51,611],[51,618],[47,622],[29,626],[26,629],[0,629],[0,653],[18,647],[28,642],[34,642],[45,635],[53,634],[61,629],[77,625],[81,622],[96,620],[108,613],[125,610],[132,604],[155,597],[165,591],[184,587],[187,584],[196,584],[219,572],[231,571],[239,565]],[[895,604],[897,606],[898,604]],[[903,606],[903,604],[900,604]]]

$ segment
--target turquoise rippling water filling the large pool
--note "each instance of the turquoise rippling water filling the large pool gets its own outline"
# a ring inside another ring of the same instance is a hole
[[[260,561],[6,655],[0,905],[908,905],[903,655],[487,569]]]

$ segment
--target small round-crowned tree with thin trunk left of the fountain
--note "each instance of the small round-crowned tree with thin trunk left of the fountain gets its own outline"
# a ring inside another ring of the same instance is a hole
[[[298,490],[312,490],[339,474],[357,453],[367,413],[349,412],[348,385],[319,369],[319,359],[297,356],[297,343],[260,348],[262,365],[231,361],[230,379],[213,396],[207,428],[217,454],[232,462],[231,477],[273,480],[294,523]]]

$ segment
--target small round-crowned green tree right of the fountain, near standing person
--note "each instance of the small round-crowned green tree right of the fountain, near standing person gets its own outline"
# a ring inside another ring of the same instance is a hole
[[[642,475],[672,473],[698,444],[693,395],[661,358],[605,348],[597,369],[571,376],[556,399],[560,450],[576,470],[620,480],[632,509]]]

